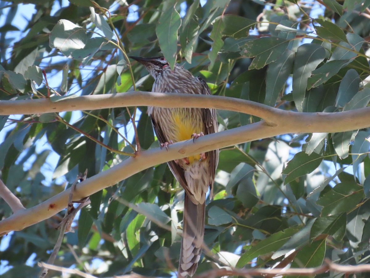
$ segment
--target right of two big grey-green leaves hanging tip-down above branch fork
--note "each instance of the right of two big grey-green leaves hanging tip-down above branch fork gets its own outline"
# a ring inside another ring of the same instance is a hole
[[[307,81],[314,69],[325,59],[325,49],[318,44],[305,43],[298,47],[293,67],[293,97],[297,110],[302,112]]]

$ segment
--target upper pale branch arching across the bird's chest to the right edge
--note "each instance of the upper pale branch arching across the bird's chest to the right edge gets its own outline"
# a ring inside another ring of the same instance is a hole
[[[249,100],[223,96],[190,95],[174,93],[128,92],[111,95],[77,96],[70,98],[0,100],[0,115],[40,114],[49,112],[94,110],[110,107],[161,106],[161,107],[205,107],[236,111],[265,119],[269,126],[297,124],[293,132],[336,132],[369,126],[370,107],[336,113],[299,113],[273,108]],[[341,122],[337,130],[334,122]],[[321,128],[317,126],[320,124]]]

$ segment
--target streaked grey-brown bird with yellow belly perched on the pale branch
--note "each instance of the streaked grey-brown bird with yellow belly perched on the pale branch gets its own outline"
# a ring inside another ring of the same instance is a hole
[[[143,64],[154,78],[152,92],[211,95],[205,80],[194,77],[181,64],[175,63],[171,70],[165,57],[130,58]],[[215,109],[148,106],[148,115],[161,148],[218,132]],[[212,150],[167,162],[185,190],[178,277],[192,276],[198,267],[204,238],[206,193],[210,189],[212,198],[218,158],[218,150]]]

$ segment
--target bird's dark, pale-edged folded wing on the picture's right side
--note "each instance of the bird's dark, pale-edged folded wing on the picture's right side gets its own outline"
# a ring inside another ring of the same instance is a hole
[[[211,91],[209,90],[209,87],[204,79],[201,77],[197,77],[199,81],[202,84],[202,95],[212,95]],[[218,123],[217,123],[217,116],[216,116],[216,110],[215,109],[209,109],[209,108],[202,108],[203,113],[203,119],[205,124],[205,134],[211,134],[218,132]],[[209,166],[211,168],[211,185],[210,185],[210,195],[209,197],[212,198],[213,193],[213,181],[215,180],[215,172],[218,164],[218,156],[219,152],[218,150],[211,150],[210,152],[207,152],[207,155],[209,155]]]

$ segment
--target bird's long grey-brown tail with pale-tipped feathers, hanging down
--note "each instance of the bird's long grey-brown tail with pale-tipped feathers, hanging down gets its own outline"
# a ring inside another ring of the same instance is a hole
[[[202,254],[205,203],[194,204],[185,193],[178,277],[193,276]]]

